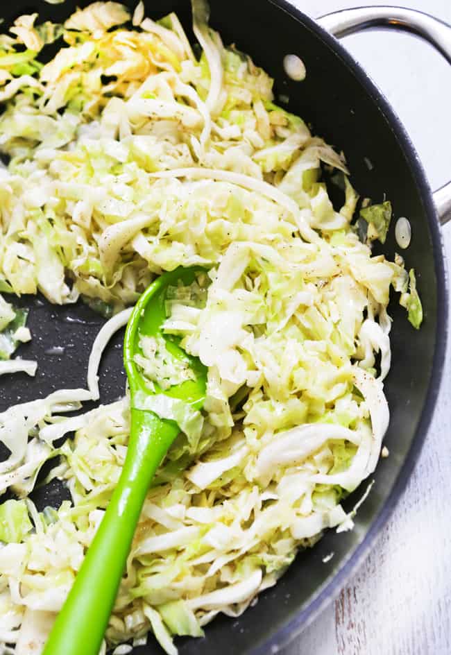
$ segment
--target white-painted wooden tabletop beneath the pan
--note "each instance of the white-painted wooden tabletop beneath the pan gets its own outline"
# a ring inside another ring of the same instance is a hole
[[[389,0],[294,0],[313,17]],[[397,0],[451,23],[451,0]],[[451,67],[411,35],[347,37],[405,124],[432,187],[451,177]],[[451,266],[451,223],[443,230]],[[432,427],[373,552],[284,655],[451,654],[451,343]]]

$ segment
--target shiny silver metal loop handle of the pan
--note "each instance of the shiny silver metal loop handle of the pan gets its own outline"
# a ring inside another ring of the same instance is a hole
[[[337,38],[374,27],[397,28],[413,32],[429,41],[451,64],[451,26],[429,14],[405,7],[357,7],[332,12],[316,19]],[[442,225],[451,220],[451,182],[434,192]]]

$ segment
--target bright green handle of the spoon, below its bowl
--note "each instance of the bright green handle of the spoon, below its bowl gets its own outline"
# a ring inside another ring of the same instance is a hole
[[[148,486],[179,429],[132,409],[124,469],[53,626],[44,655],[99,655]]]

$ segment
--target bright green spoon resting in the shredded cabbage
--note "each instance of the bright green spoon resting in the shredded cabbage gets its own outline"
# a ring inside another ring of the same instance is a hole
[[[198,271],[179,268],[164,273],[142,294],[130,316],[124,341],[132,407],[126,461],[99,530],[47,640],[44,655],[99,655],[148,486],[180,432],[171,420],[162,420],[151,411],[133,409],[137,393],[153,393],[133,358],[139,352],[140,337],[164,337],[161,327],[166,318],[164,301],[168,286],[176,285],[178,280],[191,284]],[[200,409],[205,398],[205,367],[195,357],[189,357],[176,341],[166,339],[166,346],[171,357],[188,359],[196,378],[171,386],[164,393]]]

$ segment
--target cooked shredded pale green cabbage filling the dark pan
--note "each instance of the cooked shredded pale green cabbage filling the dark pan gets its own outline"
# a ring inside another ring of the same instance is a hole
[[[423,316],[414,272],[359,241],[343,156],[274,103],[273,80],[193,5],[199,59],[176,15],[153,22],[142,3],[130,17],[96,2],[64,25],[23,16],[0,37],[0,289],[117,312],[162,271],[207,271],[169,289],[164,323],[208,368],[205,406],[155,396],[150,409],[182,432],[106,633],[112,646],[152,631],[169,654],[173,636],[243,612],[324,529],[352,527],[341,500],[373,473],[389,420],[391,286],[415,327]],[[339,210],[322,166],[344,174]],[[13,318],[2,307],[1,329]],[[141,346],[149,384],[189,377],[164,343]],[[128,398],[64,416],[93,397],[60,391],[0,415],[0,493],[19,497],[0,508],[8,652],[45,640],[119,479]],[[38,513],[25,499],[57,454],[47,479],[65,480],[72,502]]]

